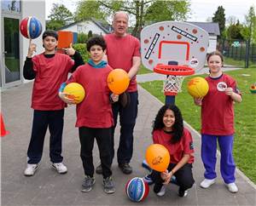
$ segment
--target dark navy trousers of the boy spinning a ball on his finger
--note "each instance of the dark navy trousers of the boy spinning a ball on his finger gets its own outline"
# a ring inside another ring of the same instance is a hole
[[[44,148],[44,138],[49,127],[49,158],[52,163],[61,163],[61,145],[64,109],[57,111],[34,111],[32,135],[27,150],[27,163],[39,163]]]

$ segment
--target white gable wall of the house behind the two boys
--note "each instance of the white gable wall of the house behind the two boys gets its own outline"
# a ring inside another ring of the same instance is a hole
[[[96,24],[90,20],[79,22],[78,24],[62,29],[61,31],[73,31],[78,33],[84,32],[85,34],[88,34],[89,31],[92,31],[92,33],[95,34],[106,34],[105,31],[103,31],[99,26],[96,26]]]

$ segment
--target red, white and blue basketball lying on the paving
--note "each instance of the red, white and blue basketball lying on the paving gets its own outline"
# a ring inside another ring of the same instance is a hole
[[[141,202],[148,197],[148,183],[143,178],[134,177],[126,183],[125,192],[131,201]]]

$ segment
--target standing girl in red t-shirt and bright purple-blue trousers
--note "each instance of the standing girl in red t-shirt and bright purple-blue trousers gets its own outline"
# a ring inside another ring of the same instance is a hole
[[[234,141],[234,102],[241,102],[236,81],[222,72],[224,58],[218,51],[207,56],[210,74],[206,77],[209,91],[203,98],[195,99],[201,106],[201,158],[205,180],[201,187],[208,188],[215,182],[217,140],[221,153],[220,173],[230,192],[238,192],[235,184],[236,165],[232,155]]]

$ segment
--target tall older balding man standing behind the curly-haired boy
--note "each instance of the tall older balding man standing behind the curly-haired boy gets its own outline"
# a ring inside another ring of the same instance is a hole
[[[126,33],[128,28],[128,14],[119,11],[113,14],[113,33],[105,36],[107,42],[107,60],[113,69],[121,68],[128,73],[131,81],[124,94],[119,96],[119,102],[113,104],[113,134],[119,114],[120,139],[117,152],[119,168],[125,174],[131,174],[132,168],[129,165],[133,152],[133,129],[137,118],[137,81],[136,74],[139,69],[140,43],[136,37]],[[125,105],[124,105],[125,103]],[[113,145],[113,142],[112,142]],[[112,157],[114,156],[114,147]],[[96,168],[96,173],[101,174],[102,167]]]

